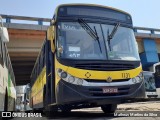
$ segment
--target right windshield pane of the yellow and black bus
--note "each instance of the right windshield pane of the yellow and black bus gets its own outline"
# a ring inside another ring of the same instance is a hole
[[[115,26],[103,25],[104,33],[110,34]],[[110,48],[108,35],[105,35],[108,59],[114,60],[139,60],[138,46],[134,32],[130,28],[118,27],[115,35],[110,39]]]

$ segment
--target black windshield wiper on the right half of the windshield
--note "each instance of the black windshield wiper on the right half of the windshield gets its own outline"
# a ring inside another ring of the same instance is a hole
[[[108,29],[108,38],[107,38],[107,41],[108,41],[108,46],[109,46],[109,50],[111,51],[111,39],[114,37],[114,35],[115,35],[115,33],[117,32],[117,30],[118,30],[118,27],[120,26],[120,23],[117,23],[116,25],[115,25],[115,27],[113,28],[113,30],[112,30],[112,32],[111,32],[111,34],[109,34],[109,29]]]

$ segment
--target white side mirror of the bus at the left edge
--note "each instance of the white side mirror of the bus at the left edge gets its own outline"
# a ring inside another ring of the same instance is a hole
[[[0,27],[0,37],[5,43],[9,42],[8,30],[5,27]]]

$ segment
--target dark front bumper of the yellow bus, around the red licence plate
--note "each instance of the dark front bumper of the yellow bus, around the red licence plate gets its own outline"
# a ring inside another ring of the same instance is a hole
[[[118,88],[118,93],[103,93],[104,87],[110,86],[79,86],[60,80],[56,90],[56,103],[58,105],[76,103],[118,104],[125,100],[145,97],[143,81],[133,85],[112,86]]]

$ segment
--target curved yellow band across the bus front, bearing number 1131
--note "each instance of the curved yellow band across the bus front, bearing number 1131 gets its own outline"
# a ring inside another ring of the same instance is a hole
[[[132,70],[123,70],[123,71],[96,71],[96,70],[83,70],[83,69],[78,69],[78,68],[73,68],[73,67],[68,67],[65,65],[60,64],[57,59],[55,58],[55,69],[57,72],[57,69],[60,68],[63,71],[66,71],[70,75],[77,77],[77,78],[82,78],[82,79],[95,79],[95,80],[106,80],[108,77],[111,77],[114,80],[121,80],[124,79],[122,77],[122,73],[129,73],[130,78],[134,78],[137,75],[142,72],[142,66],[140,65],[139,67],[132,69]],[[87,78],[85,76],[86,73],[90,73],[90,77]],[[58,77],[58,74],[56,73],[56,85],[58,84],[60,78]]]

